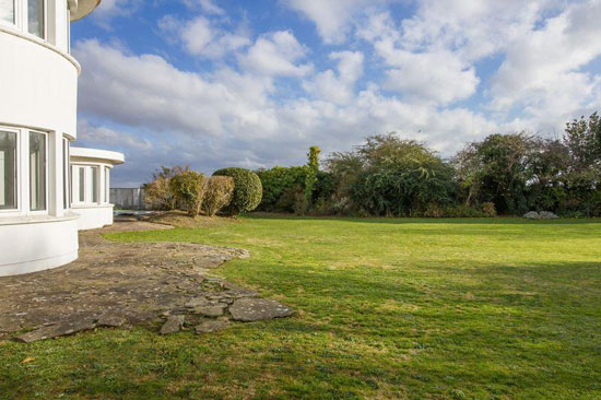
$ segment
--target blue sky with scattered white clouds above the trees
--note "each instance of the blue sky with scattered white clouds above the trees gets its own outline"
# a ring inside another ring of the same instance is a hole
[[[302,165],[397,132],[451,156],[601,111],[601,0],[103,0],[72,24],[75,145],[160,166]]]

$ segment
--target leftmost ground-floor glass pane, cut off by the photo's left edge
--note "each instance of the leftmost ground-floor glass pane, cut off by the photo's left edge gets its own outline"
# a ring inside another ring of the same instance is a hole
[[[0,210],[16,209],[16,133],[0,131]]]

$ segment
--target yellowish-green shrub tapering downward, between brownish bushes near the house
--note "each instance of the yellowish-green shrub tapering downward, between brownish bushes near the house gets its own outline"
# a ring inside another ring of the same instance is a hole
[[[204,192],[207,191],[207,180],[204,174],[190,169],[174,175],[169,180],[169,190],[179,207],[187,211],[190,216],[200,213]]]

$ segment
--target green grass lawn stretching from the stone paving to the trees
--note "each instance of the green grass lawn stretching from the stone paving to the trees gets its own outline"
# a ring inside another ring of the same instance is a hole
[[[109,238],[247,248],[215,273],[297,314],[5,342],[0,399],[601,398],[601,221],[248,217]]]

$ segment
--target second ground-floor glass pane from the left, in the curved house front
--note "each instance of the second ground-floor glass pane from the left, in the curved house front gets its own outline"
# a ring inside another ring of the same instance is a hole
[[[46,210],[46,134],[30,132],[30,200],[32,211]]]

